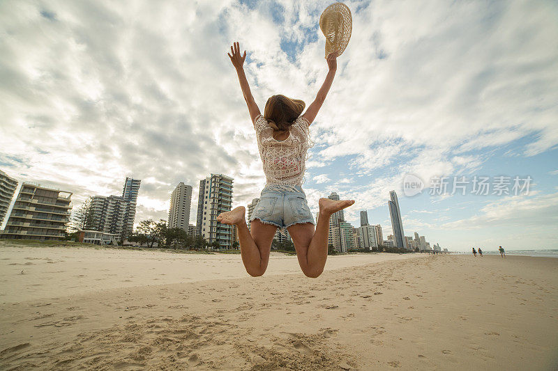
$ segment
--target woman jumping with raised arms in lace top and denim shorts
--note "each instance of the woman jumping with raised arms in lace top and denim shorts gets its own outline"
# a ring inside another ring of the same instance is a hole
[[[306,154],[310,148],[310,124],[326,100],[337,70],[336,54],[326,58],[329,71],[316,98],[306,112],[305,103],[285,95],[270,97],[264,115],[252,97],[239,42],[227,53],[236,69],[248,113],[256,132],[259,155],[262,158],[266,186],[262,190],[252,216],[250,230],[245,221],[245,208],[239,206],[217,216],[217,221],[236,226],[241,257],[250,276],[262,276],[269,262],[271,242],[277,228],[287,228],[303,273],[315,278],[322,274],[327,259],[329,219],[339,210],[354,204],[354,200],[320,198],[319,218],[315,226],[301,185],[306,169]],[[315,229],[314,229],[315,228]]]

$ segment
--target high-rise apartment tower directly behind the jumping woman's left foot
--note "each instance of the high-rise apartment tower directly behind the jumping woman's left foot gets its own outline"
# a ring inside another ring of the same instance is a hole
[[[232,207],[232,177],[211,174],[199,181],[197,200],[197,232],[209,243],[218,242],[221,248],[232,247],[232,227],[219,223],[217,216]]]

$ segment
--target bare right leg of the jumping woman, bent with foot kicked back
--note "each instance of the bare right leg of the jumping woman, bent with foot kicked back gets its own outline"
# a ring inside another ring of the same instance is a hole
[[[314,231],[312,223],[294,224],[287,228],[291,235],[299,265],[306,276],[316,278],[324,271],[327,260],[329,219],[334,212],[354,204],[354,200],[319,199],[319,218]]]

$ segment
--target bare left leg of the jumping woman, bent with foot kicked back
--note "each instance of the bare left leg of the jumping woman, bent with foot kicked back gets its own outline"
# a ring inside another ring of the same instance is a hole
[[[250,276],[262,276],[267,269],[271,242],[277,227],[255,220],[250,224],[252,230],[250,234],[244,220],[244,212],[244,207],[239,206],[232,211],[219,214],[217,221],[236,226],[240,240],[240,253],[246,271]]]

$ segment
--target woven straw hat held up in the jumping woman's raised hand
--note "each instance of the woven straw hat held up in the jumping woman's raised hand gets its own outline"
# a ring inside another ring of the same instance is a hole
[[[337,56],[340,56],[345,52],[351,38],[353,29],[351,10],[344,3],[331,4],[319,16],[319,28],[326,37],[326,58],[333,52],[337,52]]]

